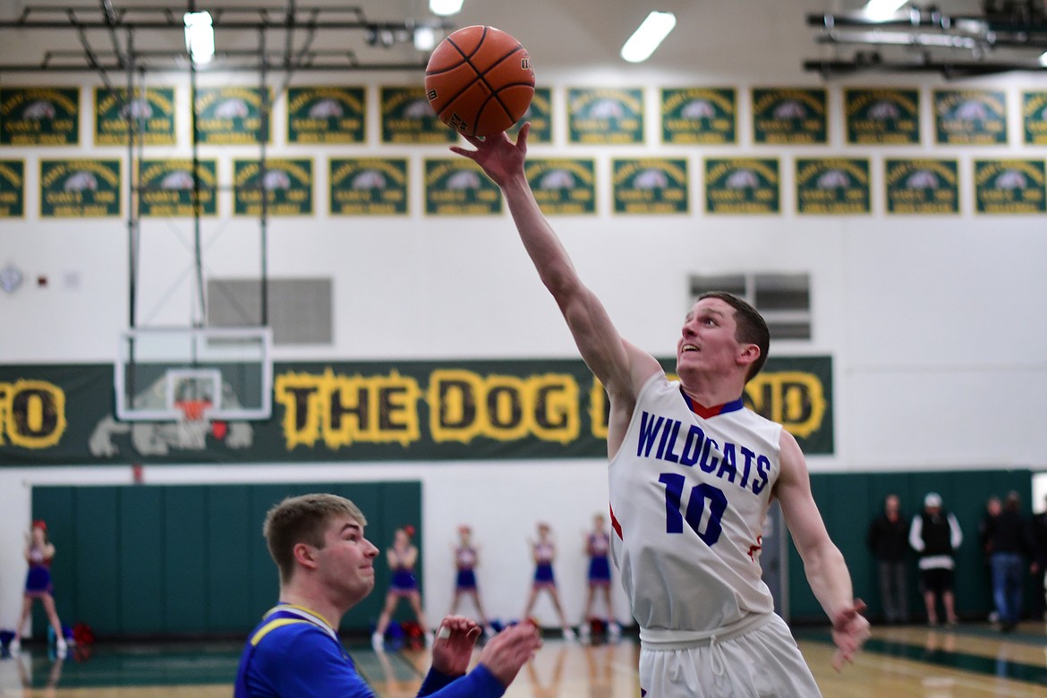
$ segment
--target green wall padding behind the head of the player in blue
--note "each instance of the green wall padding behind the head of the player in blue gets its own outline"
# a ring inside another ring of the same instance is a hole
[[[422,548],[421,482],[34,488],[32,517],[47,521],[58,550],[51,571],[63,624],[86,623],[104,636],[246,634],[280,590],[265,514],[310,492],[348,497],[367,517],[365,535],[381,550],[375,591],[341,628],[369,631],[388,588],[393,531],[414,525]],[[424,591],[421,565],[416,572]],[[405,603],[395,617],[411,617]],[[34,628],[46,627],[37,604]]]

